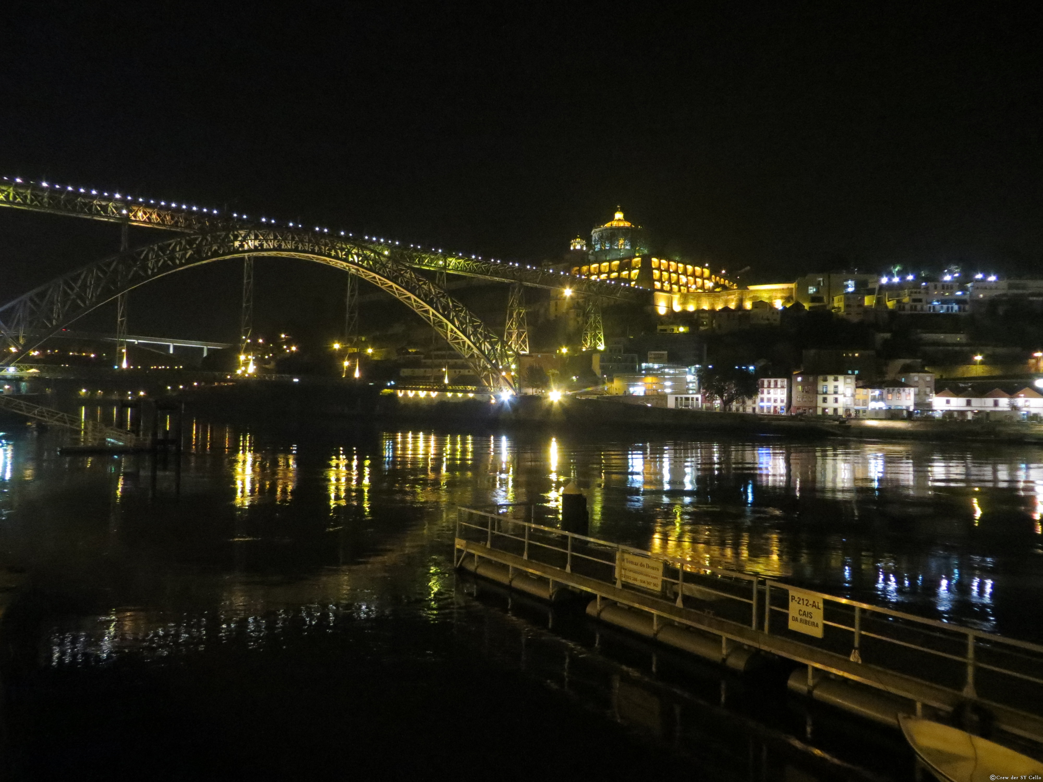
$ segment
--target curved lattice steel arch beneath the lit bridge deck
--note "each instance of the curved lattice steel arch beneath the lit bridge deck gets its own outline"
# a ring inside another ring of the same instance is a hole
[[[257,228],[183,235],[121,252],[35,288],[0,307],[0,337],[15,364],[48,337],[125,291],[167,274],[214,261],[269,255],[314,261],[372,283],[423,318],[475,369],[490,389],[513,390],[510,347],[441,288],[391,253],[310,231]]]

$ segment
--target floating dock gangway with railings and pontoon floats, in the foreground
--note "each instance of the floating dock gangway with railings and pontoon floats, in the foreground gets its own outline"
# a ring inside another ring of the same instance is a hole
[[[971,707],[1043,746],[1037,643],[472,508],[457,509],[454,564],[552,602],[585,593],[589,615],[733,669],[792,661],[791,690],[879,722]],[[821,637],[795,629],[804,604]]]

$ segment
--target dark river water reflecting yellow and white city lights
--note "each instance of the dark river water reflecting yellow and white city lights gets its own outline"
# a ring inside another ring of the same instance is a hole
[[[194,421],[0,445],[10,779],[912,778],[900,737],[453,569],[454,506],[1043,640],[1043,449]],[[819,709],[816,711],[816,709]]]

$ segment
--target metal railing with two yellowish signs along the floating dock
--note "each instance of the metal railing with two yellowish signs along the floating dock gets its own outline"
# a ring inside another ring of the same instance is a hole
[[[807,664],[809,678],[818,668],[945,710],[979,703],[1043,741],[1043,645],[470,508],[456,538],[457,564],[499,561]]]

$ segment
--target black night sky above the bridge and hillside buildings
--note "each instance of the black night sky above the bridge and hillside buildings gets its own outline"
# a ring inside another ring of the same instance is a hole
[[[1043,271],[1037,16],[647,5],[8,0],[0,169],[500,258],[618,203],[745,282]],[[69,222],[0,211],[0,293],[116,241]]]

